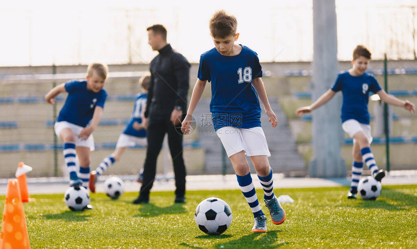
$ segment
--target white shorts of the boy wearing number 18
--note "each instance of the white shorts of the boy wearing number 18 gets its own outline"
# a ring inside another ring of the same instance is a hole
[[[241,129],[226,126],[217,130],[216,133],[228,157],[242,150],[247,156],[271,156],[262,127]]]

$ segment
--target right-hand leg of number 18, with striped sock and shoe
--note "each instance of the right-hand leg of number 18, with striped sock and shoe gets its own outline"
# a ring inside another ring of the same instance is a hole
[[[273,194],[273,171],[267,156],[251,156],[252,163],[258,173],[259,182],[264,190],[264,201],[268,208],[273,224],[282,224],[285,221],[285,211]]]

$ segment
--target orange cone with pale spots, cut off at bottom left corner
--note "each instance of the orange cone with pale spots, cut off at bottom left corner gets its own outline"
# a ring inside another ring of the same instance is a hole
[[[25,211],[23,211],[23,203],[20,199],[19,183],[16,179],[10,179],[4,203],[0,249],[15,248],[30,249],[31,246],[26,228]]]

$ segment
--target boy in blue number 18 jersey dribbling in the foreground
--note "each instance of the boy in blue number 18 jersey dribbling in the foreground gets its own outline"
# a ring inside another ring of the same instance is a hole
[[[285,212],[273,194],[273,172],[268,162],[271,153],[261,128],[259,100],[273,127],[276,127],[277,119],[260,78],[262,69],[257,53],[235,44],[239,38],[236,17],[224,10],[218,11],[211,17],[209,28],[215,48],[200,57],[197,83],[181,130],[184,134],[190,133],[192,114],[207,81],[211,82],[210,112],[214,129],[253,212],[252,232],[267,232],[267,219],[259,206],[246,156],[251,157],[255,166],[273,223],[283,223]]]

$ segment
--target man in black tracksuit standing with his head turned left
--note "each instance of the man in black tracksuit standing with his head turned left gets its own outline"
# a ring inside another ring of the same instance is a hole
[[[165,133],[175,173],[175,202],[185,202],[185,165],[182,156],[181,121],[187,108],[187,92],[190,80],[190,63],[166,42],[166,29],[156,24],[149,28],[148,38],[152,50],[158,50],[151,62],[151,79],[148,85],[144,127],[147,127],[147,150],[143,172],[143,183],[139,197],[133,203],[149,202],[157,157]]]

